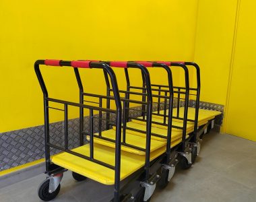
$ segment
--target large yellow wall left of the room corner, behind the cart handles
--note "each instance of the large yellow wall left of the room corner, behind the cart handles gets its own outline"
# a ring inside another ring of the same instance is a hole
[[[196,0],[2,0],[0,9],[0,132],[43,124],[36,59],[193,60]],[[77,99],[71,69],[43,70],[51,95]],[[102,92],[85,77],[86,90]]]

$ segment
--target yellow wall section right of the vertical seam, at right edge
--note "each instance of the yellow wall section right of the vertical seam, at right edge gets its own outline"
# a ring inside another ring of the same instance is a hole
[[[241,0],[226,114],[226,133],[253,141],[256,141],[255,7],[255,1]]]

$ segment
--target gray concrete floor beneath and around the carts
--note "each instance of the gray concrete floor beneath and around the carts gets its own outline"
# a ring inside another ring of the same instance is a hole
[[[1,202],[36,202],[40,174],[0,189]],[[113,187],[92,180],[75,182],[65,173],[54,201],[106,201]],[[177,169],[168,187],[156,190],[154,201],[256,201],[256,143],[232,135],[209,133],[197,162],[189,170]]]

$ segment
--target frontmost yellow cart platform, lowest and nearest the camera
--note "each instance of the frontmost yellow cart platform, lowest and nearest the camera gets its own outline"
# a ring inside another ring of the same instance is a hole
[[[181,139],[174,141],[172,143],[172,147],[178,145],[179,143],[181,143]],[[83,145],[81,147],[72,149],[72,151],[85,156],[90,156],[90,145]],[[164,154],[165,151],[166,147],[161,147],[156,151],[153,151],[150,154],[150,161],[154,160],[161,154]],[[105,162],[106,164],[115,166],[115,149],[94,143],[94,158],[96,160]],[[96,180],[102,184],[111,185],[115,183],[114,170],[101,166],[100,164],[90,162],[89,160],[79,158],[78,156],[68,154],[67,152],[62,152],[61,154],[53,156],[52,162],[63,168],[67,168],[68,170],[91,178],[92,180]],[[121,180],[125,179],[136,170],[139,170],[139,168],[143,167],[144,164],[145,156],[121,151]]]

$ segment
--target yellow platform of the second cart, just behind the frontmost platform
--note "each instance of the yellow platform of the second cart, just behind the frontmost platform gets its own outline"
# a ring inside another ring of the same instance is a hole
[[[98,135],[98,134],[97,134]],[[109,139],[116,139],[116,131],[115,129],[110,129],[107,131],[102,131],[102,137],[107,137]],[[123,133],[122,133],[122,137],[123,137]],[[145,149],[146,148],[146,136],[145,135],[134,135],[132,133],[129,133],[129,131],[126,131],[126,135],[125,135],[125,139],[126,139],[126,143],[136,146],[136,147],[140,147],[141,149]],[[89,139],[89,137],[88,137]],[[94,137],[94,142],[98,143],[100,145],[105,145],[108,147],[113,147],[115,148],[115,143],[111,142],[111,141],[107,141],[104,139],[100,139],[98,137]],[[155,151],[157,149],[159,149],[160,147],[163,147],[164,145],[166,145],[166,142],[164,141],[157,141],[156,139],[152,139],[151,140],[151,145],[150,145],[150,152]],[[145,151],[141,151],[139,149],[134,149],[125,145],[121,146],[121,149],[123,151],[128,151],[131,152],[133,154],[138,154],[138,155],[145,155]]]

